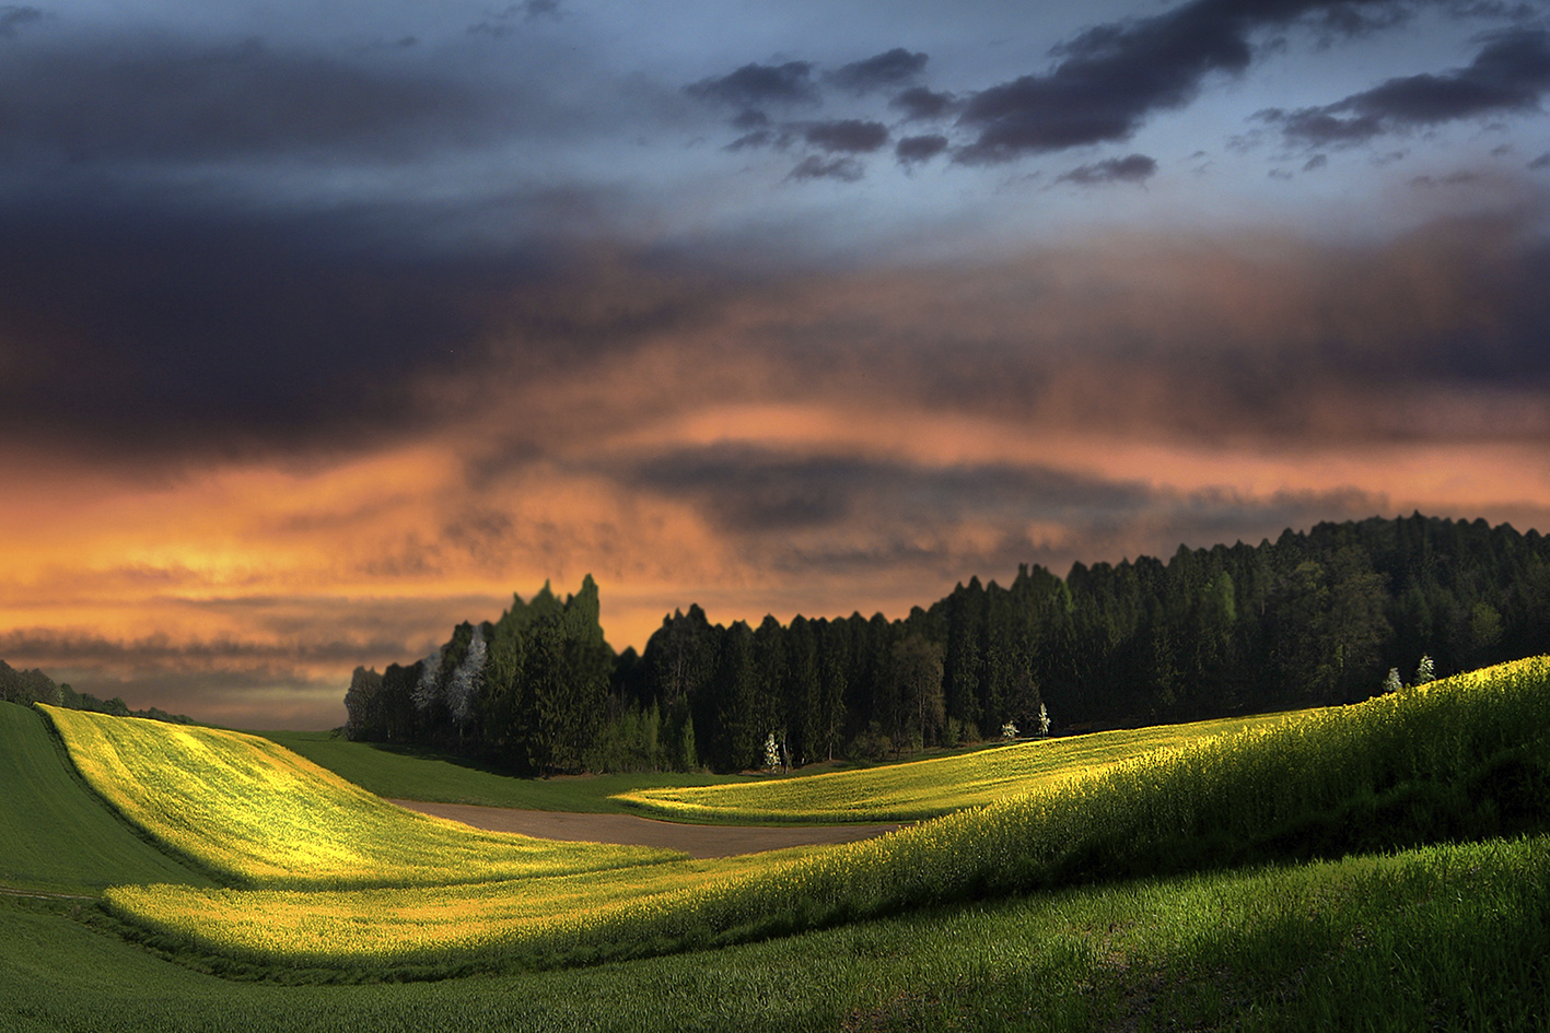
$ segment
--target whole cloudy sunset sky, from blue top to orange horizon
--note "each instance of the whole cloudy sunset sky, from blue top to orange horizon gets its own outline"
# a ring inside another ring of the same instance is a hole
[[[1550,3],[0,3],[0,658],[330,728],[1421,511],[1550,531]]]

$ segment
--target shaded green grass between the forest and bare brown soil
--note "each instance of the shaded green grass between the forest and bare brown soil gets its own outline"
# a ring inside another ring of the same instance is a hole
[[[326,731],[254,734],[277,742],[378,796],[437,804],[620,815],[629,813],[629,808],[614,796],[634,788],[747,781],[744,776],[727,774],[597,774],[529,779],[426,746],[350,742]]]

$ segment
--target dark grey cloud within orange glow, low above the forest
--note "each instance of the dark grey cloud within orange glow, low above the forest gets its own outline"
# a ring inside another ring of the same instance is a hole
[[[758,534],[852,520],[1018,520],[1139,508],[1149,489],[1004,463],[922,466],[860,455],[787,455],[756,446],[682,449],[615,472],[634,488],[688,499],[722,530]]]

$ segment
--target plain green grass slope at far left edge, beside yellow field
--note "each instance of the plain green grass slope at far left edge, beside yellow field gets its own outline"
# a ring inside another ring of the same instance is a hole
[[[0,884],[99,894],[121,883],[211,880],[160,852],[76,777],[43,717],[0,703]]]

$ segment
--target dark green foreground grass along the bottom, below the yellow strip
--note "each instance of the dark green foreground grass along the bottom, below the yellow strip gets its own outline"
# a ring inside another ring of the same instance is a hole
[[[0,901],[0,1030],[1536,1030],[1550,1014],[1544,836],[436,983],[225,982],[90,914]]]

